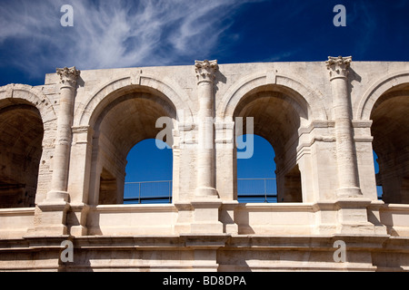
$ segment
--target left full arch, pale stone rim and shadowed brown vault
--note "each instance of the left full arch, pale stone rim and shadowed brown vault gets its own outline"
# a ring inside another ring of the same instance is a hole
[[[162,131],[155,127],[156,121],[168,117],[175,126],[180,110],[185,121],[193,121],[188,95],[169,83],[147,74],[119,77],[98,88],[78,109],[75,123],[91,126],[94,131],[91,204],[123,203],[127,154],[136,143],[155,139]],[[167,131],[168,123],[165,126]]]

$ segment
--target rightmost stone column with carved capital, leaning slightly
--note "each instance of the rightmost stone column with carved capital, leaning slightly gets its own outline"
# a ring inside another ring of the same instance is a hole
[[[351,101],[349,97],[348,70],[352,57],[328,57],[333,92],[335,121],[336,160],[338,167],[338,197],[362,195],[358,182],[356,152],[354,150],[354,128],[352,126]]]

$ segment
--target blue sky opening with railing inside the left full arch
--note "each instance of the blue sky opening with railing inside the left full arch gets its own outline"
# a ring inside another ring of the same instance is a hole
[[[172,149],[164,141],[137,143],[127,157],[124,203],[171,203],[172,164]]]

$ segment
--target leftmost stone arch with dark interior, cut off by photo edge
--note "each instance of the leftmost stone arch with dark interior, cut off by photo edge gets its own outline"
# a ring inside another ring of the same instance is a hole
[[[0,207],[34,207],[44,198],[48,183],[43,178],[50,175],[45,160],[53,143],[49,129],[55,121],[52,103],[37,88],[0,88]]]

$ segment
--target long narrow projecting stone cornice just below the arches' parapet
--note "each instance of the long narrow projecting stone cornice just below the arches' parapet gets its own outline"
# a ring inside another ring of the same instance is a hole
[[[1,239],[0,250],[55,247],[65,240],[71,240],[75,247],[122,248],[122,247],[268,247],[268,248],[321,248],[343,240],[349,248],[388,248],[409,252],[409,237],[390,235],[231,235],[231,234],[180,234],[141,236],[25,236],[15,239]],[[23,247],[20,247],[23,246]]]

